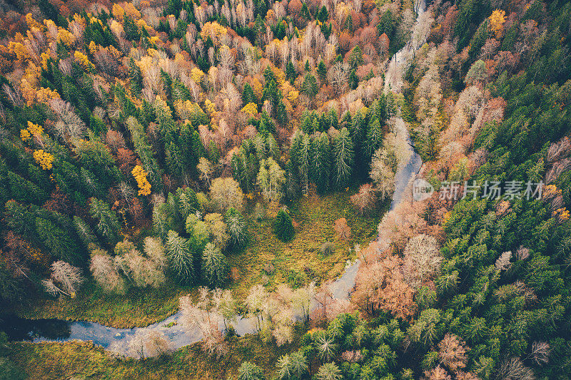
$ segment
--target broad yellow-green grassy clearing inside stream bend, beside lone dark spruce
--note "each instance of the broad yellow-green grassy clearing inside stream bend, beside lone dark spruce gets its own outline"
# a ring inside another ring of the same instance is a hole
[[[295,287],[337,277],[345,269],[345,262],[355,257],[354,245],[375,237],[382,215],[381,212],[373,217],[358,215],[345,192],[303,197],[288,207],[297,223],[293,240],[278,240],[273,233],[272,217],[261,222],[249,220],[250,244],[242,252],[228,256],[231,267],[239,270],[238,279],[231,283],[236,297],[246,297],[248,289],[258,283],[265,283],[271,290],[283,282]],[[345,217],[351,227],[349,240],[335,237],[333,225],[340,217]],[[335,244],[333,254],[320,252],[320,245],[326,241]],[[266,265],[272,265],[274,270],[266,272]]]

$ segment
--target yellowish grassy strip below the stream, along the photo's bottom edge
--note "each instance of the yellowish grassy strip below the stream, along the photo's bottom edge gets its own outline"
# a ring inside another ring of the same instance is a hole
[[[242,361],[258,364],[271,378],[278,357],[296,348],[265,344],[258,334],[228,340],[230,351],[221,359],[205,355],[200,344],[156,359],[119,359],[90,342],[12,343],[9,359],[27,379],[227,379],[237,376]]]

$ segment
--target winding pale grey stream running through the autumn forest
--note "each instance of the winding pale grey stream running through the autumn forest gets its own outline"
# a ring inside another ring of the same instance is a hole
[[[410,42],[395,53],[388,63],[386,70],[385,92],[392,90],[399,92],[403,81],[403,71],[406,63],[413,58],[414,52],[420,48],[425,42],[426,36],[423,30],[423,18],[425,14],[425,0],[418,0],[418,16],[413,26],[413,34]],[[414,180],[415,175],[420,170],[422,160],[420,155],[415,153],[410,141],[410,135],[402,118],[397,117],[395,120],[395,133],[408,142],[410,150],[410,158],[406,163],[400,165],[395,174],[395,192],[393,194],[390,210],[403,199],[405,189]],[[356,260],[353,265],[348,265],[341,277],[336,279],[330,285],[330,291],[335,299],[348,299],[350,291],[355,285],[355,277],[359,269],[360,262]],[[312,302],[311,309],[315,310],[318,304]],[[159,332],[168,339],[171,349],[179,349],[188,344],[193,344],[202,339],[202,335],[198,327],[188,329],[183,327],[182,323],[178,323],[181,319],[182,312],[177,312],[156,324],[147,327],[136,327],[133,329],[115,329],[106,327],[95,322],[67,322],[58,319],[8,319],[4,321],[6,333],[9,334],[11,340],[27,340],[31,342],[68,342],[71,340],[92,341],[94,344],[103,346],[104,349],[116,352],[118,354],[130,355],[128,352],[129,342],[138,334],[146,334],[149,332]],[[220,329],[223,329],[222,323]],[[253,334],[257,331],[254,319],[247,317],[239,317],[233,323],[238,335]]]

